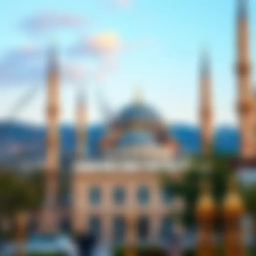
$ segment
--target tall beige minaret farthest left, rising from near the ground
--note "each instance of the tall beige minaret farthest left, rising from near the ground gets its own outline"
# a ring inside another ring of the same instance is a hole
[[[45,159],[45,201],[41,221],[41,231],[58,231],[58,171],[59,171],[59,69],[56,49],[49,52],[47,78],[47,143]]]

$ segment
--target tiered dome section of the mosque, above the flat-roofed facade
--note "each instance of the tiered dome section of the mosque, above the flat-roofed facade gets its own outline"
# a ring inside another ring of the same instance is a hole
[[[100,149],[113,159],[169,159],[178,146],[161,116],[141,98],[124,107],[113,119]]]

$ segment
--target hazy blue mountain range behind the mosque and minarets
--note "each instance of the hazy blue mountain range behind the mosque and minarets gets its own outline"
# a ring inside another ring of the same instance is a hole
[[[73,126],[60,127],[62,158],[74,154],[75,130]],[[97,156],[97,143],[105,132],[105,127],[98,124],[88,129],[87,151],[90,157]],[[198,127],[190,125],[172,125],[169,129],[174,138],[187,153],[196,153],[200,149]],[[21,123],[0,123],[0,161],[15,159],[43,159],[46,129]],[[239,133],[235,127],[218,127],[214,134],[215,149],[224,153],[238,151]]]

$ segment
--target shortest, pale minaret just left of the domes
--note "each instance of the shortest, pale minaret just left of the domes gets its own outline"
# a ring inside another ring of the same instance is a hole
[[[82,90],[78,90],[76,98],[76,160],[86,157],[86,121],[87,102]]]

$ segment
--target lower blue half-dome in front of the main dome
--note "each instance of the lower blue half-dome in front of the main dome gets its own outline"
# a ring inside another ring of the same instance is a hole
[[[132,130],[124,133],[118,141],[118,146],[134,146],[156,144],[153,135],[146,131]]]

